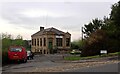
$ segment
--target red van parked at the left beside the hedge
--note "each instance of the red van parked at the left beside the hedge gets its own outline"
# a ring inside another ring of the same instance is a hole
[[[10,46],[8,49],[9,60],[27,62],[27,52],[22,46]]]

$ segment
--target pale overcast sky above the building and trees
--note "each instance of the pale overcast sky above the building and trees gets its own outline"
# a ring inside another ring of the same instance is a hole
[[[0,2],[0,33],[22,35],[30,40],[40,26],[55,27],[70,32],[72,41],[81,38],[81,27],[94,18],[109,16],[111,5],[106,1],[37,1],[18,0]]]

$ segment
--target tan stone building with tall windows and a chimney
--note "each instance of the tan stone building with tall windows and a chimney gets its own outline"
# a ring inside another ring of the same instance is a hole
[[[71,34],[62,32],[56,28],[40,27],[40,31],[32,36],[32,52],[40,54],[62,53],[69,51]]]

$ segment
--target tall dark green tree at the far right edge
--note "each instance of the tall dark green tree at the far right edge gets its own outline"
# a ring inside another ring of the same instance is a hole
[[[109,46],[110,51],[120,51],[120,1],[112,5],[109,22]],[[113,45],[111,45],[113,44]]]

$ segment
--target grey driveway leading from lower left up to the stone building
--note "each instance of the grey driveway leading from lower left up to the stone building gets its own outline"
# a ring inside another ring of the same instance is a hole
[[[3,72],[32,72],[36,68],[46,68],[64,65],[64,63],[55,63],[53,60],[61,60],[62,55],[35,55],[33,60],[27,63],[13,62],[2,67]]]

